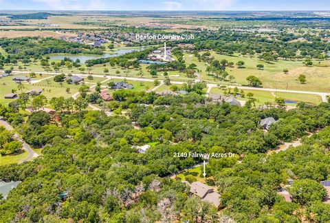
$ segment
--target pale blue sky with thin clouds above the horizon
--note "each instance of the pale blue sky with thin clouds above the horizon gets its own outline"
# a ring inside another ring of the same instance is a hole
[[[330,10],[330,0],[0,0],[0,10]]]

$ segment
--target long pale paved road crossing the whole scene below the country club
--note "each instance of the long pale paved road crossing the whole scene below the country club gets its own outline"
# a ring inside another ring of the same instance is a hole
[[[13,71],[13,73],[17,74],[29,74],[30,72],[25,71]],[[57,75],[58,73],[54,72],[42,72],[43,74],[49,74],[49,75]],[[100,74],[72,74],[76,76],[96,76],[96,77],[104,77],[104,75]],[[155,78],[133,78],[129,76],[106,76],[108,79],[105,81],[102,81],[102,83],[109,81],[111,78],[116,79],[126,79],[131,81],[148,81],[153,82],[155,81]],[[197,80],[198,81],[198,80]],[[171,81],[171,83],[175,85],[182,85],[184,81]],[[234,88],[237,87],[239,89],[250,89],[250,90],[259,90],[259,91],[265,91],[265,92],[286,92],[286,93],[297,93],[297,94],[316,94],[322,98],[323,102],[327,102],[327,96],[330,96],[329,92],[305,92],[305,91],[296,91],[296,90],[287,90],[287,89],[274,89],[274,88],[258,88],[258,87],[247,87],[247,86],[232,86],[232,85],[225,85],[226,87]],[[95,86],[94,86],[95,87]],[[211,89],[212,87],[217,87],[217,84],[208,83],[207,84],[208,89]]]

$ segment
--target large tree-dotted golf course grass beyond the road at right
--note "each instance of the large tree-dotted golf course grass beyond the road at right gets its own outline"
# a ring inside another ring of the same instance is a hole
[[[263,87],[277,88],[277,89],[293,89],[309,92],[330,92],[330,61],[321,61],[318,66],[318,61],[314,61],[314,66],[306,67],[303,65],[303,61],[284,61],[279,60],[272,63],[265,63],[260,61],[256,57],[250,58],[250,56],[225,56],[211,52],[215,59],[221,61],[226,59],[229,62],[234,62],[234,67],[227,67],[228,74],[235,77],[236,83],[241,85],[248,84],[246,78],[250,75],[254,75],[261,79]],[[206,72],[207,65],[203,62],[199,62],[192,54],[185,54],[185,60],[187,64],[196,63],[199,70],[201,70],[202,78],[206,81],[214,81],[212,76]],[[237,61],[244,61],[245,68],[238,68]],[[257,64],[263,64],[264,69],[258,70]],[[283,69],[288,69],[289,72],[285,74]],[[300,84],[298,76],[305,74],[307,82]],[[229,83],[228,81],[222,83]]]

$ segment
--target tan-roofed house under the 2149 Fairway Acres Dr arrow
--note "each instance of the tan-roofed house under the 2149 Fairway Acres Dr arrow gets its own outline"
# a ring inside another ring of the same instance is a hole
[[[214,189],[201,182],[193,182],[190,185],[190,193],[195,194],[201,198],[201,200],[210,202],[216,207],[220,205],[220,195],[214,192]]]

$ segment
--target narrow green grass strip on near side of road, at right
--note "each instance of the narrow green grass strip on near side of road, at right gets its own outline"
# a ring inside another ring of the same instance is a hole
[[[237,98],[239,100],[248,100],[246,94],[251,92],[254,94],[253,98],[256,98],[256,105],[265,105],[266,102],[274,103],[276,97],[284,98],[284,100],[293,100],[296,102],[305,102],[314,105],[318,105],[322,102],[320,96],[316,94],[295,94],[295,93],[286,93],[286,92],[265,92],[260,90],[245,90],[245,98]],[[217,87],[213,87],[210,91],[210,94],[223,94],[223,89],[219,89]],[[287,105],[294,105],[292,103],[287,103]]]

